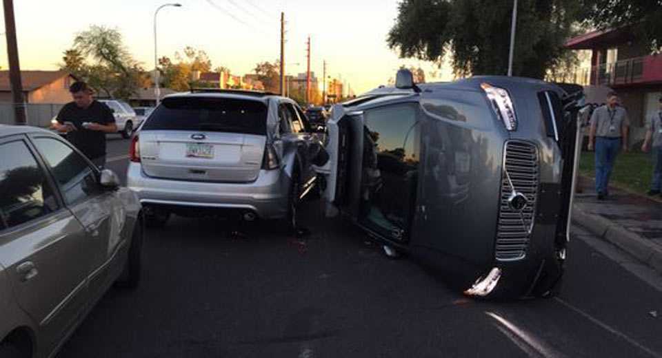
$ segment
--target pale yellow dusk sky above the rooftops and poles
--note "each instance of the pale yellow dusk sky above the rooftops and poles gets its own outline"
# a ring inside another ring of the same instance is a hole
[[[425,61],[399,59],[386,45],[397,16],[397,0],[181,0],[181,8],[163,8],[158,16],[159,56],[172,56],[190,45],[205,50],[212,66],[234,74],[252,72],[260,61],[279,59],[280,12],[285,12],[285,72],[305,72],[305,41],[311,36],[311,70],[339,77],[360,94],[394,77],[400,65],[421,66],[428,81],[452,78]],[[106,25],[123,34],[124,43],[146,69],[154,66],[155,0],[14,1],[23,70],[55,70],[77,32]],[[4,24],[3,24],[4,29]],[[7,69],[6,41],[0,41],[0,67]],[[212,68],[213,68],[212,67]],[[430,73],[438,72],[437,78]]]

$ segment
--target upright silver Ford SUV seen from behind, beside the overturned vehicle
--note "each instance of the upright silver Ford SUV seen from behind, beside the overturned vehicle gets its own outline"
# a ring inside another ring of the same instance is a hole
[[[285,220],[314,189],[311,163],[321,143],[289,98],[263,92],[200,89],[173,94],[134,136],[128,187],[161,226],[170,213],[238,213]]]

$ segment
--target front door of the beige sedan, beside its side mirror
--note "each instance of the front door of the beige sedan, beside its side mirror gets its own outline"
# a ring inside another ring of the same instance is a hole
[[[90,297],[99,297],[112,284],[118,260],[121,231],[126,209],[114,191],[103,189],[94,165],[68,143],[51,136],[35,136],[32,141],[50,167],[63,200],[85,228],[86,255],[90,257]]]

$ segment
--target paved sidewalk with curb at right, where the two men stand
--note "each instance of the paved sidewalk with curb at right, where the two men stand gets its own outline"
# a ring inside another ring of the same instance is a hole
[[[593,181],[580,180],[584,191],[574,196],[574,224],[662,274],[662,203],[614,188],[608,200],[597,200]]]

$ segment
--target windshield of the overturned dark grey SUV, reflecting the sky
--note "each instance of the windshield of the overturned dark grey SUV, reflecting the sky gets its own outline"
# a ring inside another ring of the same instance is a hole
[[[359,222],[384,238],[410,237],[420,161],[417,103],[364,112]]]

